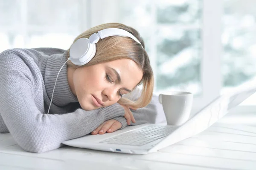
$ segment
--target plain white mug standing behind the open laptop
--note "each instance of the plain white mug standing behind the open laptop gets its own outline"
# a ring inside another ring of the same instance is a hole
[[[158,99],[163,105],[167,124],[180,126],[189,119],[193,103],[191,92],[163,92]]]

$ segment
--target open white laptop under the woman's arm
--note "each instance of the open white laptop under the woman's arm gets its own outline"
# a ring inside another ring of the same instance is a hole
[[[155,152],[206,130],[222,118],[229,109],[240,104],[254,92],[256,92],[256,87],[220,95],[180,127],[142,124],[128,126],[104,135],[89,134],[62,143],[73,147],[118,153],[147,154]]]

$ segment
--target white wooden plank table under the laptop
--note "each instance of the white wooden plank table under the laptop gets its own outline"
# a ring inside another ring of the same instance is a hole
[[[255,125],[256,113],[227,114],[206,131],[147,155],[68,146],[28,153],[9,133],[0,134],[0,170],[256,170]]]

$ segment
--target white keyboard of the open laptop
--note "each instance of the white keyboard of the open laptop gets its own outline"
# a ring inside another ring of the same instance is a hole
[[[177,127],[148,125],[139,130],[133,130],[108,138],[100,143],[107,142],[108,144],[142,146],[160,138],[164,138],[176,129]]]

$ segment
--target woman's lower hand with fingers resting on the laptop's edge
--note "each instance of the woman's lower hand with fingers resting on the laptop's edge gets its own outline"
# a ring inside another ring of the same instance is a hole
[[[115,120],[115,119],[110,119],[108,121],[103,122],[101,125],[99,125],[99,127],[96,128],[96,130],[93,130],[93,132],[91,132],[92,135],[97,135],[99,134],[105,134],[107,133],[111,133],[114,132],[116,130],[119,130],[122,127],[122,124]]]

